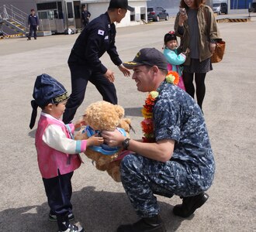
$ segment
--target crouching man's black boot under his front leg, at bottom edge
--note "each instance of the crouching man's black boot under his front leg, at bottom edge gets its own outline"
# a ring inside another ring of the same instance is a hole
[[[156,215],[154,217],[143,217],[136,223],[121,225],[116,232],[165,232],[164,224],[161,217]]]

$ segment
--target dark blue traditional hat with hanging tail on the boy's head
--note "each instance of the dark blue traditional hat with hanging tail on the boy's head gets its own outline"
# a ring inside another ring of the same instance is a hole
[[[37,107],[45,107],[47,104],[58,104],[61,101],[68,99],[67,90],[64,86],[50,77],[48,74],[43,73],[36,77],[36,82],[33,89],[33,98],[31,106],[33,112],[30,119],[29,128],[32,129],[36,122]]]

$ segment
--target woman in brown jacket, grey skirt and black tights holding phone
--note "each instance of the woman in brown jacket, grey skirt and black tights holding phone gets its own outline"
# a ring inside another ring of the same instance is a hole
[[[196,88],[196,99],[201,109],[206,94],[206,73],[213,70],[210,56],[216,46],[214,39],[218,38],[213,10],[204,3],[204,0],[182,0],[181,10],[175,19],[175,33],[181,37],[182,51],[190,50],[183,70],[185,90],[194,98]]]

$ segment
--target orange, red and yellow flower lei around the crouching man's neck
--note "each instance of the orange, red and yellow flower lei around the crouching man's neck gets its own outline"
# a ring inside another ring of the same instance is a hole
[[[165,80],[170,84],[178,84],[179,76],[175,71],[169,71]],[[157,91],[151,91],[145,100],[145,104],[141,110],[144,120],[140,122],[143,131],[143,142],[155,142],[154,138],[154,121],[153,121],[153,107],[154,102],[157,100],[159,93]]]

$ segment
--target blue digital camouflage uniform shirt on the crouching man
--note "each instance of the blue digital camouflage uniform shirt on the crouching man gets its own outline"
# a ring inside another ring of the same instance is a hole
[[[184,167],[189,186],[209,189],[215,162],[202,111],[189,94],[173,84],[164,81],[157,91],[153,110],[156,141],[175,140],[171,161]]]

